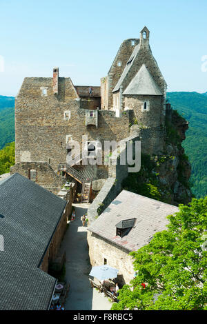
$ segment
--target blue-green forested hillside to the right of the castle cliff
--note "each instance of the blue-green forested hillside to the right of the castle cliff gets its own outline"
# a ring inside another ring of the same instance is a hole
[[[197,198],[207,194],[207,95],[197,92],[168,92],[172,108],[189,121],[182,143],[192,165],[190,182]]]

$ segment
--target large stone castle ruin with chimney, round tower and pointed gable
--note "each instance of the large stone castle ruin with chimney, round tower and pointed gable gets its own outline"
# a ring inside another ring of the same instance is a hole
[[[25,78],[15,101],[16,164],[11,173],[19,172],[56,194],[69,177],[82,185],[83,201],[89,201],[94,189],[101,190],[101,201],[108,204],[121,190],[127,168],[82,165],[81,155],[79,164],[68,165],[68,141],[77,141],[82,148],[82,136],[87,135],[90,152],[95,149],[91,141],[139,139],[141,152],[162,154],[166,81],[149,39],[144,27],[139,39],[123,41],[100,87],[73,85],[70,77],[59,77],[59,68],[53,69],[52,78]],[[116,189],[108,201],[112,185]]]

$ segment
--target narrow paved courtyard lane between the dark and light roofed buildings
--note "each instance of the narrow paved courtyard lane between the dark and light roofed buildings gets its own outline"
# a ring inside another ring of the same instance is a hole
[[[112,303],[108,298],[90,287],[87,227],[81,223],[81,216],[87,212],[88,204],[72,205],[76,219],[70,222],[61,243],[61,250],[66,250],[66,279],[70,283],[65,310],[110,310]]]

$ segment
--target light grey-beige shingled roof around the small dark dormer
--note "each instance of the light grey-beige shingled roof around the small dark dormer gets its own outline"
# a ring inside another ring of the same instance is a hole
[[[156,232],[166,230],[166,216],[178,211],[173,205],[123,190],[88,230],[128,252],[136,251],[148,244]],[[132,217],[136,219],[132,230],[122,238],[116,236],[117,223]]]

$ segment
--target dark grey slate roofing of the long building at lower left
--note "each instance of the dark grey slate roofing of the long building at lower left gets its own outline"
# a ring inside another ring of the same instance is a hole
[[[0,183],[0,310],[47,310],[56,279],[39,269],[66,201],[18,173]]]

